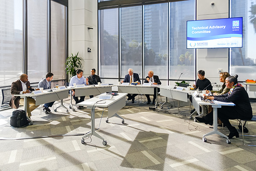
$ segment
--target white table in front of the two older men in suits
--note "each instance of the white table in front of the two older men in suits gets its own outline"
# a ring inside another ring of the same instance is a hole
[[[154,89],[159,87],[159,85],[145,86],[143,84],[137,84],[137,85],[117,85],[117,87],[118,87],[118,93],[154,95]],[[156,95],[155,106],[157,107],[157,105],[158,105],[158,101],[157,101],[157,95]]]

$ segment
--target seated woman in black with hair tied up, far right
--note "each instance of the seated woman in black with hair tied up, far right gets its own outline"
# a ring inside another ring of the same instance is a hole
[[[205,96],[205,99],[218,100],[224,102],[233,102],[235,106],[221,106],[218,108],[218,118],[223,124],[230,130],[228,138],[231,139],[233,136],[239,137],[239,133],[236,128],[233,127],[229,119],[252,119],[253,111],[250,105],[249,96],[244,87],[237,82],[238,75],[229,76],[226,78],[226,86],[230,88],[229,93],[222,94],[219,96]],[[213,118],[213,112],[209,113],[203,118],[195,117],[199,122],[211,122]]]

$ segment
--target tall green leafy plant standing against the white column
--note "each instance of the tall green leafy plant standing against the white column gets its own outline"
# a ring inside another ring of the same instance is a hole
[[[78,53],[76,55],[69,56],[66,60],[66,71],[72,77],[76,75],[76,70],[80,69],[82,66],[81,61],[84,61],[83,58],[78,57]]]

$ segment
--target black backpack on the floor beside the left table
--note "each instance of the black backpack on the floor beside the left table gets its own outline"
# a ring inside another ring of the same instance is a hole
[[[10,124],[13,127],[22,128],[29,125],[29,121],[26,118],[25,110],[15,110],[12,112]]]

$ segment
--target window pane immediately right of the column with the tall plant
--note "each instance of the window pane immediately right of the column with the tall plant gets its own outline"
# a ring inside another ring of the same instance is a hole
[[[100,11],[101,77],[118,78],[118,9]]]

